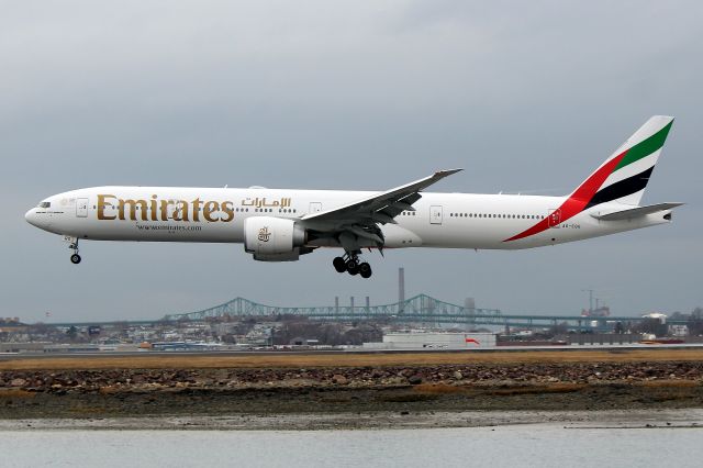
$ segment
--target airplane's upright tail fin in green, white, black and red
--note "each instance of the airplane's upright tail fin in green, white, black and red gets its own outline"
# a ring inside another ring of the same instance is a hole
[[[650,118],[569,199],[585,202],[584,210],[610,201],[639,204],[672,123],[672,116]]]

